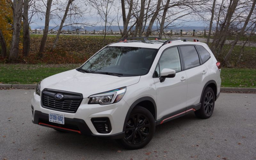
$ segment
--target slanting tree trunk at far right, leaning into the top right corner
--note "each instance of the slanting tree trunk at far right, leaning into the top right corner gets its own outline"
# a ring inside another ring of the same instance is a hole
[[[251,8],[251,10],[250,10],[250,12],[249,12],[249,14],[248,14],[248,16],[247,16],[245,22],[244,22],[244,26],[243,26],[243,28],[241,29],[240,33],[236,36],[236,39],[232,42],[232,46],[230,47],[230,49],[229,49],[227,55],[226,55],[225,58],[224,58],[224,62],[225,62],[225,63],[227,63],[227,61],[228,61],[228,59],[229,59],[229,57],[230,57],[230,55],[231,55],[233,49],[234,49],[235,46],[236,46],[236,43],[238,42],[238,40],[240,39],[240,37],[243,36],[244,30],[245,30],[245,28],[246,28],[246,26],[247,26],[247,24],[248,24],[248,22],[249,22],[249,20],[250,20],[250,18],[251,18],[251,16],[252,16],[252,12],[253,12],[253,10],[254,10],[255,3],[256,3],[256,0],[253,0],[253,2],[252,2],[252,8]]]

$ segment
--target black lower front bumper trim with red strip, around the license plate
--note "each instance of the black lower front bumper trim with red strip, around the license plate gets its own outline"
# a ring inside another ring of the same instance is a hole
[[[49,122],[49,114],[42,113],[40,111],[34,112],[34,120],[32,121],[34,124],[39,124],[45,127],[54,128],[66,132],[76,132],[84,135],[95,136],[99,138],[106,139],[122,139],[124,137],[124,132],[112,134],[112,135],[95,135],[91,132],[88,125],[85,123],[83,119],[78,118],[66,118],[65,124],[57,124]]]

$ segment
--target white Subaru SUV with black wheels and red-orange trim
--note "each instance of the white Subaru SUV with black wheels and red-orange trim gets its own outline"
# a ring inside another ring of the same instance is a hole
[[[31,100],[32,120],[138,149],[158,124],[190,112],[209,118],[220,83],[220,63],[194,38],[125,38],[81,67],[42,80]]]

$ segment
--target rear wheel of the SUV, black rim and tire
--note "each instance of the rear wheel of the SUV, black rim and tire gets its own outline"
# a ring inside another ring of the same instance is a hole
[[[198,118],[207,119],[212,116],[215,104],[215,96],[211,87],[206,87],[201,100],[201,108],[195,111]]]

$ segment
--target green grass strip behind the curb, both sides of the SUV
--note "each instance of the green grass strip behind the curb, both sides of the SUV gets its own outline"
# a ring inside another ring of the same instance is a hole
[[[75,69],[81,64],[0,64],[0,83],[36,84],[54,74]],[[222,68],[222,87],[255,87],[256,69]]]

